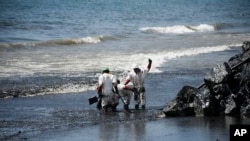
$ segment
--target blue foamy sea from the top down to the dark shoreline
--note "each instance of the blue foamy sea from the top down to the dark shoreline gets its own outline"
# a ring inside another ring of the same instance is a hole
[[[198,85],[250,39],[249,7],[248,0],[0,0],[1,90],[95,90],[104,67],[123,80],[148,58],[149,91]]]

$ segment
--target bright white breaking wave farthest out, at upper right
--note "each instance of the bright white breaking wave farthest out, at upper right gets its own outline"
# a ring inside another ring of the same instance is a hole
[[[200,24],[196,26],[174,25],[167,27],[143,27],[139,29],[142,32],[157,32],[164,34],[187,34],[195,32],[211,32],[216,30],[216,26],[209,24]]]

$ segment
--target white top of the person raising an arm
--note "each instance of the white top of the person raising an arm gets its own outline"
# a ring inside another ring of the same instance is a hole
[[[138,74],[136,74],[134,71],[131,71],[126,80],[130,80],[130,82],[133,83],[134,87],[144,87],[144,80],[147,76],[148,69],[141,70]]]

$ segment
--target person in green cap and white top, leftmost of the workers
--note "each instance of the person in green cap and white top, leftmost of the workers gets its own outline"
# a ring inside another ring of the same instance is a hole
[[[110,73],[109,68],[105,68],[102,75],[98,78],[97,91],[102,100],[102,109],[105,112],[108,111],[109,108],[111,108],[112,111],[116,111],[119,102],[116,82],[116,77]]]

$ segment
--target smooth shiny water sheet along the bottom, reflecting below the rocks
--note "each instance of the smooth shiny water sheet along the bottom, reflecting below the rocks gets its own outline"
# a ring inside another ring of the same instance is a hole
[[[245,121],[232,117],[181,117],[134,123],[102,124],[65,132],[48,140],[193,140],[223,141],[229,140],[229,126]],[[249,124],[249,121],[248,121]]]

